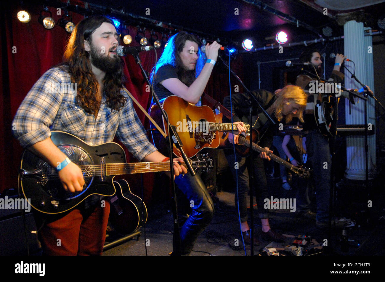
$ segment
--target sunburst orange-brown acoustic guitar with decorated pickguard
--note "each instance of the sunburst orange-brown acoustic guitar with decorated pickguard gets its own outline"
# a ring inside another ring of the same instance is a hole
[[[176,126],[176,131],[183,143],[183,150],[188,158],[195,156],[203,148],[218,148],[220,143],[218,131],[238,131],[236,124],[216,122],[214,112],[208,106],[198,107],[178,96],[168,96],[161,100],[161,104],[168,115],[170,124]],[[149,114],[159,126],[163,126],[164,132],[168,134],[167,124],[156,104],[152,105]],[[249,125],[245,125],[245,127],[249,131]],[[153,124],[151,124],[151,128],[154,128]],[[157,148],[167,146],[168,142],[165,142],[161,134],[151,133]],[[179,149],[175,146],[173,151],[176,156],[181,156]]]

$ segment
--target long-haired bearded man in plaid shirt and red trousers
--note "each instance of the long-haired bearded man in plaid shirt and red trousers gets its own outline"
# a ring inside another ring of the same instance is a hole
[[[57,168],[66,191],[82,191],[85,181],[79,166],[50,139],[53,130],[71,133],[90,145],[110,142],[116,135],[136,159],[166,159],[149,142],[131,99],[122,89],[117,38],[109,18],[93,16],[79,22],[67,44],[64,62],[40,77],[13,120],[13,136]],[[68,87],[71,83],[76,87]],[[174,169],[176,176],[187,172],[176,162]],[[58,215],[36,213],[44,254],[100,255],[110,210],[109,203],[102,204],[101,199],[91,195]]]

